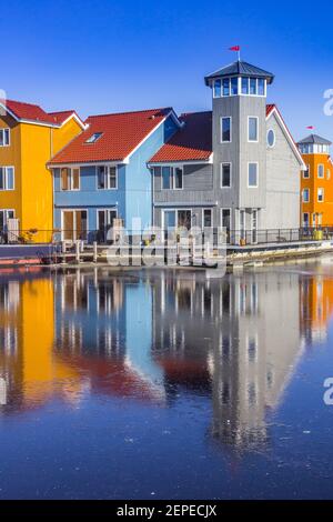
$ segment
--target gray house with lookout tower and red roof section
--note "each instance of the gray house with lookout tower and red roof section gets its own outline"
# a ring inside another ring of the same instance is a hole
[[[182,114],[149,161],[154,225],[223,225],[232,243],[300,227],[305,165],[278,108],[266,104],[273,79],[244,61],[205,77],[213,110]]]

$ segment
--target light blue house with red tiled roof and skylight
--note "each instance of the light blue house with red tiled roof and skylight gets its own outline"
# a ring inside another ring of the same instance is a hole
[[[176,114],[170,108],[103,114],[85,124],[49,163],[61,239],[103,242],[114,219],[129,231],[151,225],[147,163],[181,127]]]

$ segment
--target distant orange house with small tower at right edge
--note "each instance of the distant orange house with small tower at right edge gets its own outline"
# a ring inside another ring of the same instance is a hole
[[[301,225],[333,225],[331,141],[310,134],[297,143],[306,170],[301,172]]]

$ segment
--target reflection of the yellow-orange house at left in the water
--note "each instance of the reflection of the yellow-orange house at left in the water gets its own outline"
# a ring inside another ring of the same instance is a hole
[[[75,372],[53,357],[53,283],[27,275],[0,285],[0,377],[7,400],[30,408],[54,393],[57,381]]]

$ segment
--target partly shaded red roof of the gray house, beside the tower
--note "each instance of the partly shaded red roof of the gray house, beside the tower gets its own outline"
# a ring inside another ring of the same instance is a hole
[[[184,123],[150,160],[150,163],[169,161],[206,161],[212,153],[212,112],[182,114]]]

